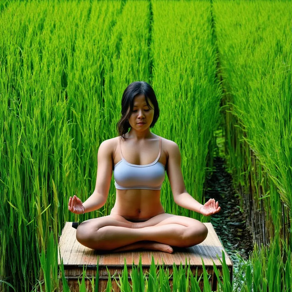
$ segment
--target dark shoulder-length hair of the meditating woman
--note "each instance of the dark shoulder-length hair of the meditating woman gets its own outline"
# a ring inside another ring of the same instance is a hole
[[[158,120],[159,117],[159,106],[157,102],[156,95],[154,93],[153,88],[145,81],[135,81],[132,82],[128,87],[125,89],[122,97],[122,110],[121,110],[121,119],[117,122],[117,131],[119,132],[119,135],[126,139],[125,134],[128,133],[129,128],[131,127],[128,119],[131,116],[132,110],[133,110],[133,103],[134,98],[136,95],[144,95],[147,105],[150,106],[148,103],[148,98],[151,100],[152,104],[154,105],[154,116],[153,121],[150,125],[150,128],[153,128],[155,123]],[[130,106],[130,110],[127,113],[128,107]]]

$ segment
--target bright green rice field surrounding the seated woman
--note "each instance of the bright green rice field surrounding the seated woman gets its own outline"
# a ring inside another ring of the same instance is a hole
[[[64,223],[109,214],[113,177],[95,212],[68,212],[68,199],[93,193],[99,145],[138,80],[154,88],[152,131],[178,144],[186,190],[205,201],[220,153],[240,194],[254,250],[218,291],[292,291],[291,15],[284,0],[0,1],[0,291],[58,289]],[[174,203],[167,176],[161,203],[210,221]],[[122,291],[197,291],[187,268],[171,287],[157,271],[134,270],[131,287],[125,269]]]

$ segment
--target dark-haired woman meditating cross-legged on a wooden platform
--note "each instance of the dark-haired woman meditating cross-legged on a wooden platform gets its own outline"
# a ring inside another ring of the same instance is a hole
[[[172,253],[172,246],[201,243],[208,234],[203,223],[164,212],[160,189],[165,171],[179,206],[206,216],[219,212],[220,207],[214,199],[202,205],[187,193],[178,145],[150,132],[159,117],[152,87],[142,81],[131,83],[121,105],[122,117],[117,123],[120,136],[103,141],[98,149],[93,194],[84,203],[70,197],[68,208],[75,214],[101,208],[107,200],[112,171],[116,201],[110,215],[82,222],[77,240],[88,248],[111,252],[142,248]]]

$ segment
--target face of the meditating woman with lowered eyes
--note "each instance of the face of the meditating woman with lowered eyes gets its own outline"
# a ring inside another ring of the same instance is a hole
[[[148,103],[152,108],[148,107],[145,100],[145,95],[135,96],[133,110],[129,118],[129,124],[132,128],[135,128],[136,130],[145,130],[151,125],[154,117],[154,105],[149,99]],[[145,124],[138,124],[139,122],[143,122]]]

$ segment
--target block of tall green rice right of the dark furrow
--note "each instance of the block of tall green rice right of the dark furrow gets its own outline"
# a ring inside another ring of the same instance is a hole
[[[234,185],[240,183],[241,193],[252,196],[241,198],[241,205],[252,210],[248,221],[255,225],[254,233],[260,233],[258,243],[266,244],[274,233],[288,243],[292,51],[287,27],[292,6],[287,1],[218,0],[213,10],[226,91],[226,154]]]

